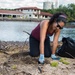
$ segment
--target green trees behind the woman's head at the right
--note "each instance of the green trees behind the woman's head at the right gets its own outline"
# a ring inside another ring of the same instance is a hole
[[[68,6],[62,6],[60,5],[57,9],[49,9],[49,10],[42,10],[44,12],[49,12],[51,14],[57,13],[57,12],[63,12],[67,15],[68,21],[75,21],[75,4],[68,4]]]

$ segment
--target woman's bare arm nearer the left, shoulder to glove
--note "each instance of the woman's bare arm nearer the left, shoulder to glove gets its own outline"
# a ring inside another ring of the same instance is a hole
[[[40,25],[40,54],[44,54],[44,41],[46,38],[48,22],[49,21],[46,20]]]

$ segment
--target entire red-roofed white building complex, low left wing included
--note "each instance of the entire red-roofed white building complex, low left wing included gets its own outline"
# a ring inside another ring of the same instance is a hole
[[[37,7],[23,7],[14,10],[0,10],[0,20],[42,20],[50,19],[52,14],[42,12],[41,9]]]

